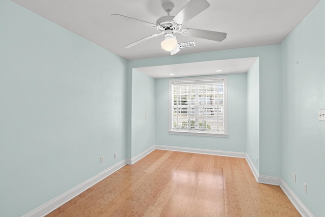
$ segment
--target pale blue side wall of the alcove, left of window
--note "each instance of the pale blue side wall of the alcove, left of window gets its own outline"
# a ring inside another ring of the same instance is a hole
[[[154,145],[155,79],[137,70],[132,73],[132,156]]]

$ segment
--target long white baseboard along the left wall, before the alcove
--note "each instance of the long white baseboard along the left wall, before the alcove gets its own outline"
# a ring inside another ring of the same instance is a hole
[[[100,182],[107,176],[111,175],[115,171],[119,170],[123,166],[126,165],[126,160],[120,161],[119,163],[111,166],[110,168],[104,170],[103,172],[89,178],[88,180],[82,182],[81,184],[77,185],[75,188],[69,190],[66,193],[54,198],[53,200],[43,204],[42,206],[28,212],[27,214],[23,215],[23,217],[40,217],[45,216],[46,214],[50,213],[51,211],[55,210],[59,206],[67,203],[69,200],[75,198],[82,192],[86,191],[94,184]]]

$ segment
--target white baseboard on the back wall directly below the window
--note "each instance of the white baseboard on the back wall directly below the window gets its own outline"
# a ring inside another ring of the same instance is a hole
[[[182,151],[182,152],[211,154],[211,155],[234,157],[234,158],[246,158],[246,153],[243,152],[218,151],[218,150],[210,150],[210,149],[186,148],[186,147],[167,146],[167,145],[155,145],[154,147],[155,149],[159,149],[159,150]]]

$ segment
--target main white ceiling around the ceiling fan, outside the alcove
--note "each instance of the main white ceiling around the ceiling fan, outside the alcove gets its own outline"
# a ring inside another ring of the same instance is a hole
[[[175,5],[176,15],[189,0],[12,0],[125,59],[169,56],[160,48],[163,36],[132,48],[123,46],[158,33],[155,28],[110,16],[122,14],[155,23],[165,16],[163,2]],[[222,42],[176,35],[178,42],[196,47],[179,53],[197,53],[281,43],[319,0],[208,0],[211,7],[183,27],[227,33]]]

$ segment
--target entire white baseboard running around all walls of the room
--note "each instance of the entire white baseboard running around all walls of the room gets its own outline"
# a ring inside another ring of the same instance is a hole
[[[45,216],[46,214],[50,213],[54,209],[58,208],[59,206],[63,205],[64,203],[68,202],[69,200],[73,199],[74,197],[78,196],[82,192],[86,191],[94,184],[100,182],[107,176],[111,175],[115,171],[119,170],[126,164],[132,165],[137,161],[144,158],[147,154],[152,152],[155,149],[160,150],[171,150],[171,151],[183,151],[183,152],[190,152],[190,153],[201,153],[201,154],[211,154],[217,156],[226,156],[226,157],[235,157],[235,158],[245,158],[256,181],[258,183],[265,183],[265,184],[272,184],[272,185],[280,185],[281,189],[285,193],[285,195],[289,198],[291,203],[297,208],[302,216],[306,217],[313,217],[312,213],[307,209],[307,207],[299,200],[297,195],[289,188],[289,186],[284,182],[282,178],[273,177],[273,176],[264,176],[259,175],[257,169],[255,168],[254,164],[252,163],[251,159],[248,157],[247,153],[243,152],[232,152],[232,151],[218,151],[218,150],[209,150],[209,149],[200,149],[200,148],[186,148],[186,147],[175,147],[175,146],[166,146],[166,145],[154,145],[147,150],[141,152],[136,157],[132,159],[125,159],[112,167],[104,170],[103,172],[95,175],[94,177],[84,181],[83,183],[77,185],[77,187],[71,189],[70,191],[54,198],[53,200],[43,204],[42,206],[28,212],[27,214],[23,215],[23,217],[39,217]]]

